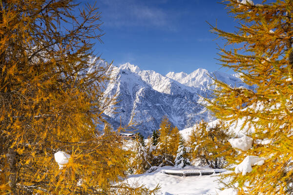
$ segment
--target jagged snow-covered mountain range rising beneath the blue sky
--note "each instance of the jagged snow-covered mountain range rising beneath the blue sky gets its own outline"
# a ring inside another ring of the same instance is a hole
[[[116,112],[110,112],[111,109],[105,112],[107,120],[117,128],[120,123],[128,124],[133,117],[134,127],[145,137],[159,128],[164,115],[179,130],[191,127],[201,119],[213,120],[200,104],[204,103],[200,96],[209,98],[212,93],[209,85],[213,81],[207,74],[221,76],[220,80],[233,86],[241,82],[231,75],[214,73],[198,69],[190,75],[168,73],[165,77],[129,63],[114,68],[114,82],[108,83],[105,93],[110,97],[116,94],[119,102],[115,105]]]

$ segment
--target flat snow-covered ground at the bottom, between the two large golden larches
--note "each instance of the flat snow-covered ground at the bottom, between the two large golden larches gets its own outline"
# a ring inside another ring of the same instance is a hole
[[[206,170],[208,167],[187,166],[181,171]],[[157,184],[161,189],[157,195],[218,195],[221,190],[217,182],[220,174],[210,176],[173,176],[164,173],[164,170],[179,170],[171,166],[161,167],[158,170],[141,175],[129,176],[129,184],[142,185],[153,189]]]

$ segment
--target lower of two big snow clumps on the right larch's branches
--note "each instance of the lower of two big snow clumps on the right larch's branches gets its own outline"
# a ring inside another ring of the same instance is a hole
[[[258,156],[246,156],[244,160],[235,167],[235,173],[241,173],[245,176],[247,173],[252,171],[252,166],[263,165],[265,163],[265,158]]]

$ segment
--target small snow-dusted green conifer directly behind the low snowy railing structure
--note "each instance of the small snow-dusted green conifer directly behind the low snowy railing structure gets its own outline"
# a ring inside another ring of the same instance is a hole
[[[184,168],[186,165],[190,165],[190,160],[188,158],[189,148],[184,146],[183,138],[180,138],[177,155],[175,158],[175,166]]]

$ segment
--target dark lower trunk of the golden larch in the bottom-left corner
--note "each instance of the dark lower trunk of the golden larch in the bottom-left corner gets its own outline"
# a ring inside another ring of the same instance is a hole
[[[16,189],[16,181],[17,181],[17,168],[16,168],[16,152],[14,148],[8,149],[7,154],[7,163],[8,163],[8,185],[11,189],[10,195],[17,195],[17,189]]]

